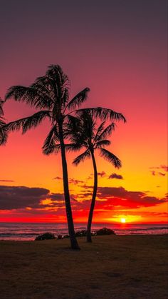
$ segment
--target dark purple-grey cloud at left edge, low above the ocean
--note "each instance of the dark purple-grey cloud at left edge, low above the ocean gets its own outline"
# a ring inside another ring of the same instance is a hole
[[[25,186],[0,186],[0,209],[37,208],[49,190]]]

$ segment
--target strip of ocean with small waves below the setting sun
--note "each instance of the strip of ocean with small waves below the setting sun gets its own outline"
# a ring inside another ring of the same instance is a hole
[[[168,224],[93,223],[92,231],[111,228],[117,235],[160,235],[168,233]],[[75,223],[75,230],[86,229],[86,223]],[[66,223],[0,223],[0,240],[34,240],[42,233],[66,235]]]

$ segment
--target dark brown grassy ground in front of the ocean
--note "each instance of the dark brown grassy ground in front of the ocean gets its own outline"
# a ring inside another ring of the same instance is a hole
[[[0,298],[168,298],[167,235],[0,242]]]

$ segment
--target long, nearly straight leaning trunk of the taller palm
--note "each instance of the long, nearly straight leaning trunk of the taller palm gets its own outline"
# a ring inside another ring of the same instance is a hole
[[[68,186],[68,169],[65,156],[65,145],[63,141],[63,126],[62,123],[59,124],[59,136],[60,136],[60,145],[61,145],[61,158],[62,158],[62,167],[63,167],[63,189],[65,196],[65,209],[68,222],[68,232],[70,235],[70,245],[72,249],[80,249],[78,242],[75,238],[75,230],[73,225],[73,215],[70,206],[70,193]]]

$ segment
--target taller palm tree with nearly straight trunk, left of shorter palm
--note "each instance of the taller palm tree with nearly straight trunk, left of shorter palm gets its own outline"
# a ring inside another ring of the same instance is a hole
[[[10,131],[19,130],[26,133],[28,129],[35,128],[41,121],[48,118],[51,121],[51,131],[44,142],[45,146],[52,148],[53,143],[59,142],[61,148],[62,168],[63,168],[63,188],[65,196],[65,209],[68,221],[68,231],[70,235],[70,244],[72,249],[80,249],[75,238],[73,225],[73,216],[70,206],[70,193],[68,188],[68,168],[65,156],[64,138],[68,136],[66,127],[73,116],[70,110],[80,106],[87,98],[89,88],[80,91],[74,98],[69,98],[70,81],[68,76],[58,65],[48,67],[45,76],[36,78],[36,81],[30,86],[11,86],[6,93],[6,100],[14,98],[15,101],[28,103],[33,108],[40,109],[32,116],[12,121],[8,124]],[[75,117],[74,117],[75,118]]]

